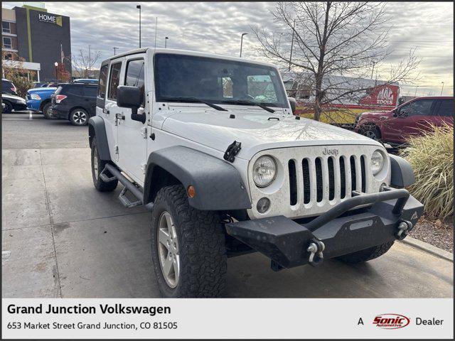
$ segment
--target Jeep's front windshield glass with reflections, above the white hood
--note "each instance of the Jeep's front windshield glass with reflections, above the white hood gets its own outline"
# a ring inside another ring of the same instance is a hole
[[[288,106],[274,67],[192,55],[155,55],[155,93],[157,102],[197,98],[212,103],[247,100],[268,107]]]

